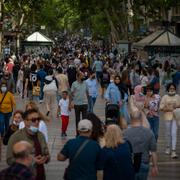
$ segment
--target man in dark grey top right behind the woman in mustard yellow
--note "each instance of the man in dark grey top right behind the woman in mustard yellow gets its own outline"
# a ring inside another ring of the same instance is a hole
[[[15,92],[15,83],[12,74],[10,74],[8,71],[5,71],[3,73],[3,77],[0,80],[1,82],[6,82],[7,83],[7,89],[10,91],[12,94]]]

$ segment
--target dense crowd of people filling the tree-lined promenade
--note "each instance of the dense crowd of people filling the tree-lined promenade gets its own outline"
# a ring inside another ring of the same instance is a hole
[[[58,118],[61,137],[68,136],[73,109],[76,138],[57,155],[58,161],[69,159],[66,180],[146,180],[150,171],[158,175],[160,120],[165,153],[178,158],[180,67],[170,60],[150,64],[136,53],[121,57],[117,49],[68,39],[49,59],[7,57],[1,70],[0,135],[9,165],[0,172],[2,180],[44,180],[44,165],[50,161],[46,123]],[[16,109],[14,94],[29,100],[25,109]],[[94,114],[98,96],[110,110],[106,121]],[[45,114],[38,104],[45,105]]]

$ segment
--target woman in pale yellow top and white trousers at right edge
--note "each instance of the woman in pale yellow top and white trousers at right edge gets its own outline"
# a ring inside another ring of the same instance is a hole
[[[163,112],[163,119],[166,125],[166,151],[171,158],[177,158],[177,122],[173,117],[173,111],[180,107],[180,96],[176,94],[176,86],[173,83],[167,85],[167,95],[162,97],[160,110]]]

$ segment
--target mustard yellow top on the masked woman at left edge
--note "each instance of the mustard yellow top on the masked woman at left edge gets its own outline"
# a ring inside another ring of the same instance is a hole
[[[0,102],[2,101],[4,94],[0,92]],[[0,112],[2,113],[9,113],[13,111],[13,107],[15,107],[15,99],[11,92],[7,92],[6,96],[0,105]]]

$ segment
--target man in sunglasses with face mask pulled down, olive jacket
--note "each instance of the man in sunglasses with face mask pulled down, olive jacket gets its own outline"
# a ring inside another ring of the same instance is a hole
[[[8,142],[6,159],[11,165],[14,162],[12,147],[19,141],[27,141],[34,147],[34,160],[36,180],[45,180],[44,164],[49,162],[50,155],[44,135],[38,131],[39,113],[35,109],[25,111],[23,115],[25,128],[18,130],[13,134]]]

